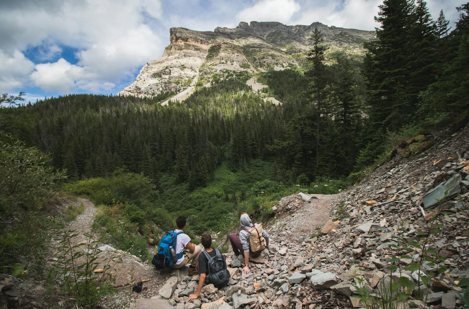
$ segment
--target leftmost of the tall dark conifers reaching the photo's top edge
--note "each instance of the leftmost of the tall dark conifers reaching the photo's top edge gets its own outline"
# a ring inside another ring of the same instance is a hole
[[[409,0],[385,0],[375,21],[377,40],[365,44],[368,49],[364,73],[369,83],[369,125],[392,131],[408,123],[415,112],[405,90],[408,83],[408,35],[413,5]]]

